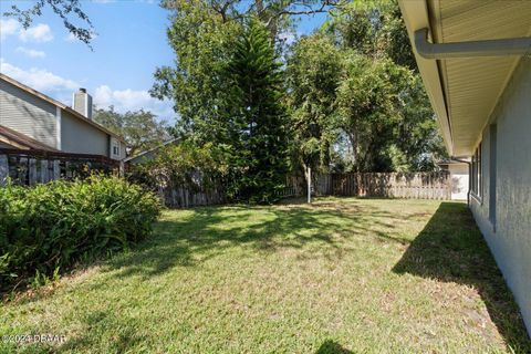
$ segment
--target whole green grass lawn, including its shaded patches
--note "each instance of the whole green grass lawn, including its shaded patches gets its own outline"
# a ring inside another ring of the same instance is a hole
[[[164,212],[135,250],[1,305],[29,353],[531,352],[466,205],[320,199]]]

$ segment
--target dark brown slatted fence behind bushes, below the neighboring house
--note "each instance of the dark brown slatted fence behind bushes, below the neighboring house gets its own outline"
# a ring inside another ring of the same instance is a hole
[[[0,186],[8,179],[31,186],[85,177],[94,170],[117,174],[119,162],[102,155],[0,148]]]

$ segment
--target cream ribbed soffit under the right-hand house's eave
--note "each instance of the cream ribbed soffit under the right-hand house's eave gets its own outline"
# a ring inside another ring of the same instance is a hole
[[[424,8],[429,17],[433,40],[437,43],[529,37],[531,1],[522,0],[402,0],[400,9],[409,32],[421,28],[412,19],[413,8]],[[418,11],[418,10],[417,10]],[[412,37],[412,33],[410,38]],[[447,112],[431,100],[439,123],[450,126],[451,155],[471,155],[481,139],[481,132],[498,103],[520,56],[447,59],[438,62],[439,83]],[[426,60],[424,60],[426,61]],[[435,76],[418,60],[427,91]],[[426,76],[426,77],[425,77]],[[434,94],[430,94],[430,97]],[[446,116],[447,114],[447,116]],[[444,135],[448,134],[442,131]],[[445,138],[448,143],[448,138]],[[447,144],[448,147],[448,144]]]

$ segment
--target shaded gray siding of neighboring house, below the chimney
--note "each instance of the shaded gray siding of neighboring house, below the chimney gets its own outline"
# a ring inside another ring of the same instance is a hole
[[[110,156],[108,134],[63,111],[61,115],[61,150]]]

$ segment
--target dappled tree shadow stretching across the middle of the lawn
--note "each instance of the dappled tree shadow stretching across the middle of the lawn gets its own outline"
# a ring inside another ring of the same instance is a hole
[[[355,235],[386,242],[408,242],[389,236],[395,228],[393,219],[398,216],[355,201],[346,206],[323,202],[311,208],[231,206],[188,211],[191,215],[183,219],[159,221],[155,238],[134,252],[111,260],[107,267],[119,269],[116,277],[139,274],[147,279],[174,267],[200,266],[233,247],[250,253],[271,253],[279,248],[319,246],[315,257],[326,251],[330,257],[341,258],[342,244]]]

